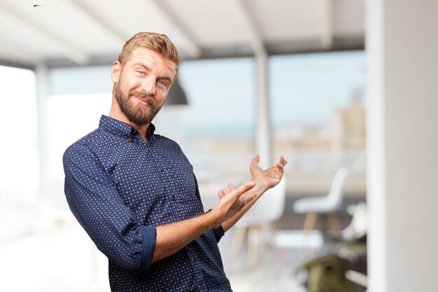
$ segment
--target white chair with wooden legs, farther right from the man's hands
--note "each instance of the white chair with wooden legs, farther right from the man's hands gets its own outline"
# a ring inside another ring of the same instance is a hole
[[[293,205],[293,210],[298,214],[306,214],[304,221],[305,232],[310,232],[316,223],[317,214],[328,214],[329,228],[332,232],[340,232],[339,221],[336,211],[341,207],[344,200],[342,188],[348,174],[346,167],[341,167],[334,174],[330,193],[324,197],[304,197]]]

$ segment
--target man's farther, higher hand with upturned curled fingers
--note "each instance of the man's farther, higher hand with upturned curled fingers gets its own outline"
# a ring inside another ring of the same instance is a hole
[[[253,161],[251,161],[251,165],[249,170],[253,175],[252,181],[254,181],[257,185],[265,186],[266,188],[273,188],[274,186],[280,183],[281,178],[283,177],[284,167],[288,163],[287,160],[284,159],[283,156],[280,157],[276,166],[270,167],[268,169],[262,169],[258,165],[260,162],[260,155],[255,156]]]

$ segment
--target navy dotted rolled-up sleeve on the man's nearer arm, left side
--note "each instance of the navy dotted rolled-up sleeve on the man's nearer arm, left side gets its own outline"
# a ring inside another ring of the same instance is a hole
[[[147,270],[155,250],[156,228],[136,221],[87,145],[70,146],[63,162],[66,200],[97,248],[115,265]]]

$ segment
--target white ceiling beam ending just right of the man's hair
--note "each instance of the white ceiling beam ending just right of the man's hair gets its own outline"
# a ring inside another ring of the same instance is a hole
[[[187,53],[192,58],[197,58],[201,55],[202,50],[197,44],[195,37],[192,36],[190,30],[185,27],[181,19],[174,11],[172,11],[167,4],[162,0],[150,0],[148,4],[152,4],[158,11],[161,11],[162,15],[166,18],[166,21],[171,23],[171,25],[176,29],[178,34],[180,34],[183,39],[185,39],[187,47],[185,47],[185,53]]]

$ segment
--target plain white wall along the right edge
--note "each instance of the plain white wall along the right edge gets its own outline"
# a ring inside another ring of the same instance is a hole
[[[438,1],[367,1],[369,291],[438,291]]]

